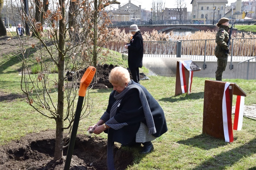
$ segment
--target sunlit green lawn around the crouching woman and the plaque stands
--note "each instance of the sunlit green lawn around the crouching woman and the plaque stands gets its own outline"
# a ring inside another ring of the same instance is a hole
[[[117,55],[117,54],[115,54]],[[119,57],[122,57],[119,55]],[[55,122],[30,107],[20,90],[19,63],[15,57],[0,57],[0,92],[17,95],[17,99],[0,102],[0,145],[11,140],[46,129],[54,129]],[[111,61],[114,64],[114,61]],[[141,71],[145,71],[143,68]],[[168,132],[153,141],[154,152],[140,155],[134,151],[133,165],[129,170],[170,169],[256,169],[256,121],[244,117],[242,131],[233,131],[234,142],[228,143],[202,134],[204,81],[210,78],[193,78],[190,95],[175,94],[175,78],[148,76],[141,81],[165,111]],[[237,83],[246,93],[245,105],[256,103],[256,81],[225,79]],[[91,89],[87,95],[93,99],[93,110],[79,123],[79,134],[98,121],[106,109],[112,89]],[[57,95],[57,94],[56,94]],[[233,96],[235,105],[236,96]],[[232,115],[233,118],[233,115]],[[93,134],[92,137],[95,135]],[[106,138],[106,134],[100,135]],[[96,144],[97,145],[97,144]]]

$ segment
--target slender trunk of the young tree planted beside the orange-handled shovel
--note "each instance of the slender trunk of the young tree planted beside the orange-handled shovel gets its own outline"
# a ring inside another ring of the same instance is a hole
[[[59,4],[64,3],[64,0],[59,0]],[[54,160],[58,160],[63,156],[63,108],[64,108],[64,78],[65,78],[65,58],[64,58],[64,45],[65,45],[65,8],[61,8],[62,19],[59,20],[59,52],[58,52],[58,111],[56,119],[56,143]]]

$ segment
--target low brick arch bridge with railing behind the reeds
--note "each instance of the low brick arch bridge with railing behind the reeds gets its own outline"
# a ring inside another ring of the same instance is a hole
[[[125,30],[126,33],[129,32],[130,26],[114,26],[114,28],[118,28],[121,31]],[[218,27],[216,25],[204,25],[204,24],[176,24],[176,25],[143,25],[138,28],[142,33],[144,32],[152,32],[153,30],[157,30],[158,32],[171,32],[173,30],[195,30],[195,31],[218,31]]]

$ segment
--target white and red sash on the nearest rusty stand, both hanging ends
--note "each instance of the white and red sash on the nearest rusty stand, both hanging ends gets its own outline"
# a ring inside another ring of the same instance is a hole
[[[222,99],[222,117],[225,142],[233,142],[233,129],[231,117],[231,101],[229,96],[230,83],[226,82]],[[232,88],[232,87],[231,87]],[[237,104],[234,118],[234,130],[241,130],[243,121],[244,97],[237,96]],[[237,115],[237,116],[236,116]]]

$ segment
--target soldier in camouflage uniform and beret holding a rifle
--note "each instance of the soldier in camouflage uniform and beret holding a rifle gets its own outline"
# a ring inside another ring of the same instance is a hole
[[[214,50],[214,55],[218,58],[217,63],[218,67],[215,72],[216,80],[222,81],[222,74],[225,71],[227,62],[228,62],[228,54],[229,54],[229,47],[227,45],[228,38],[229,38],[229,19],[228,18],[221,18],[217,23],[217,27],[219,30],[216,34],[215,43],[217,46]]]

